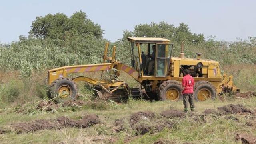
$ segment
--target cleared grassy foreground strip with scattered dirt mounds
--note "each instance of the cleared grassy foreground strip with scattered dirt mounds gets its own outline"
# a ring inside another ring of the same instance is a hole
[[[180,101],[40,102],[35,104],[37,113],[28,113],[27,107],[2,111],[0,142],[253,144],[256,97],[241,95],[196,102],[193,113],[181,111]]]

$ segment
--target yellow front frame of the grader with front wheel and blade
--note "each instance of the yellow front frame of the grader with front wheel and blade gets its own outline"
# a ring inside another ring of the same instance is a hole
[[[102,97],[102,93],[100,92],[101,90],[108,93],[108,97],[104,97],[104,98],[109,98],[109,96],[112,96],[111,97],[112,99],[114,98],[118,99],[118,97],[114,97],[112,93],[114,93],[116,90],[119,90],[119,89],[125,90],[125,93],[129,93],[129,94],[132,93],[131,90],[136,91],[136,89],[130,89],[124,81],[118,81],[116,79],[102,80],[101,78],[96,79],[96,78],[89,78],[86,76],[78,76],[76,78],[72,78],[72,80],[68,79],[72,83],[68,83],[65,81],[67,80],[66,78],[68,77],[68,74],[82,73],[82,72],[98,72],[98,71],[103,72],[103,71],[112,70],[113,68],[127,72],[135,80],[138,80],[138,72],[136,72],[129,66],[116,61],[115,59],[116,47],[113,47],[112,57],[106,56],[107,51],[108,51],[108,43],[106,43],[103,62],[108,61],[110,63],[64,66],[64,67],[49,70],[48,71],[48,84],[50,86],[49,95],[51,97],[58,96],[57,98],[60,101],[65,101],[66,99],[69,99],[69,98],[75,99],[78,93],[76,92],[77,86],[74,82],[79,82],[79,81],[84,81],[89,84],[92,84],[99,97]],[[115,72],[115,75],[118,76],[119,71]],[[56,85],[58,86],[56,87]],[[72,91],[72,90],[75,90],[75,91]],[[67,96],[66,93],[68,93],[69,96]]]

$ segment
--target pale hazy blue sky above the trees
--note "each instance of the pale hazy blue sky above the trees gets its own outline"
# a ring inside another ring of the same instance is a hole
[[[82,10],[101,25],[104,37],[115,41],[122,31],[140,23],[184,22],[193,33],[218,40],[256,37],[256,0],[2,0],[0,43],[28,35],[36,16]]]

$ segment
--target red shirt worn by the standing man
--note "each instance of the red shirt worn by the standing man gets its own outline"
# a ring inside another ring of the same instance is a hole
[[[184,87],[182,94],[194,93],[194,78],[187,74],[182,78],[182,86]]]

